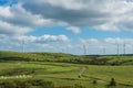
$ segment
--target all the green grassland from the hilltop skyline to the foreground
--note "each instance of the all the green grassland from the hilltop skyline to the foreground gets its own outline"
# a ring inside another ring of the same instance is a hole
[[[0,52],[0,82],[51,81],[55,88],[133,88],[133,56],[75,56],[55,53]],[[84,76],[79,78],[82,67]],[[108,86],[111,78],[116,86]],[[94,82],[96,81],[96,82]],[[48,88],[33,85],[28,88]],[[52,88],[52,87],[49,87]]]

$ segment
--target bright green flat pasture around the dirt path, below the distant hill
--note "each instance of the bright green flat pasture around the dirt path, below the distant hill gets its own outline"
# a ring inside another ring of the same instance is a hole
[[[88,68],[84,76],[79,78],[78,75],[83,66]],[[96,66],[44,62],[0,63],[0,81],[29,79],[12,77],[22,75],[31,76],[30,79],[53,81],[55,87],[80,84],[86,88],[108,88],[106,85],[111,78],[114,78],[116,86],[111,88],[133,88],[133,66]],[[2,76],[9,78],[3,79]],[[96,80],[95,85],[93,80]]]

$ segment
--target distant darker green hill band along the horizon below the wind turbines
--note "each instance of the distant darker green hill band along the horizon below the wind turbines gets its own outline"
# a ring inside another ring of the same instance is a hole
[[[58,62],[90,65],[133,65],[133,55],[71,55],[63,53],[19,53],[0,51],[0,61]]]

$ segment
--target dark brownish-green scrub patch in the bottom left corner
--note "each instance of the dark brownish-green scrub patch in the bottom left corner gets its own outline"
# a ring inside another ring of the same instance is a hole
[[[42,79],[12,80],[0,82],[0,88],[31,88],[31,86],[38,86],[39,88],[54,88],[54,84],[52,81],[45,81]]]

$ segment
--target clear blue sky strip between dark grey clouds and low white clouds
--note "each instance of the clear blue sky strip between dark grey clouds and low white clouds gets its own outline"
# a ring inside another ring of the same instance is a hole
[[[63,26],[54,26],[54,28],[40,28],[40,30],[35,30],[33,32],[28,33],[28,35],[35,35],[40,36],[43,34],[52,34],[52,35],[60,35],[65,34],[72,38],[98,38],[103,40],[105,37],[122,37],[122,38],[132,38],[133,32],[132,31],[119,31],[119,32],[112,32],[112,31],[100,31],[100,30],[93,30],[89,28],[81,28],[82,32],[80,34],[73,34],[72,32],[65,30]]]

